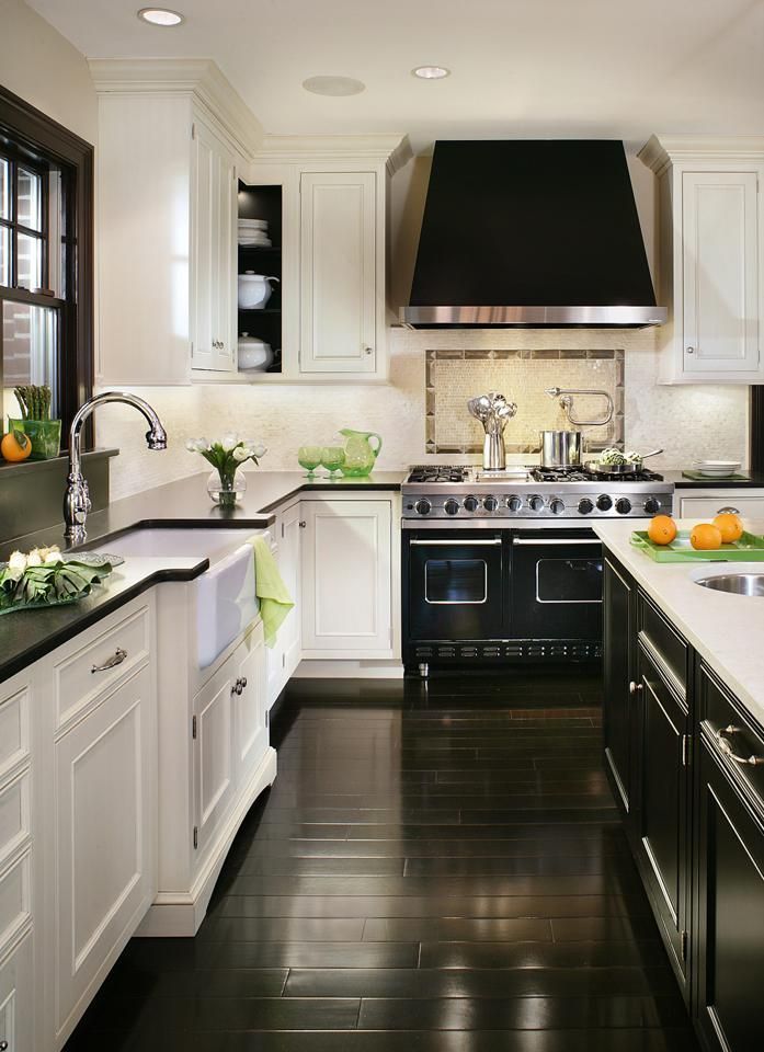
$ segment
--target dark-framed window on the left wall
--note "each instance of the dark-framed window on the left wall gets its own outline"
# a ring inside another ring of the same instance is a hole
[[[47,384],[66,428],[92,390],[92,147],[0,89],[0,409]]]

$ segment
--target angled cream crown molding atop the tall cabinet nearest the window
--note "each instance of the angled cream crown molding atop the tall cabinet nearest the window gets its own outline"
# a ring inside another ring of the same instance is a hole
[[[260,148],[260,121],[209,58],[98,58],[88,65],[100,95],[186,95],[212,112],[244,158]]]

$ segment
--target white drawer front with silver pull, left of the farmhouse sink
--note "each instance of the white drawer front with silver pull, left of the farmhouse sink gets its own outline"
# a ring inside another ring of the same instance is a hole
[[[150,627],[149,609],[144,606],[57,662],[54,667],[56,730],[148,659]]]

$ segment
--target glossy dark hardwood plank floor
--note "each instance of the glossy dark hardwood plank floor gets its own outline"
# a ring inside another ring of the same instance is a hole
[[[566,671],[294,682],[195,939],[134,939],[66,1052],[696,1052]]]

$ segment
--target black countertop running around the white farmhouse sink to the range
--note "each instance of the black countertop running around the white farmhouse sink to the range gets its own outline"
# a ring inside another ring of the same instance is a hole
[[[215,506],[207,495],[209,472],[168,482],[135,496],[114,501],[88,516],[88,540],[81,548],[102,548],[110,537],[140,526],[164,527],[241,527],[258,529],[270,526],[276,510],[293,496],[307,492],[328,495],[332,491],[400,490],[402,471],[379,471],[363,479],[338,480],[317,477],[306,479],[297,471],[251,471],[243,501],[232,511]],[[28,551],[43,545],[64,544],[61,524],[33,534],[0,541],[0,559],[14,549]],[[176,562],[176,561],[175,561]],[[146,567],[140,560],[136,573],[129,565],[110,579],[105,586],[71,606],[38,610],[20,610],[0,617],[0,682],[50,653],[61,643],[89,628],[125,603],[162,581],[190,581],[207,570],[206,559],[185,560],[182,567]],[[124,572],[123,572],[124,571]]]

